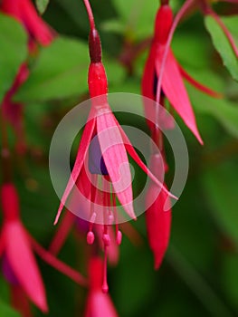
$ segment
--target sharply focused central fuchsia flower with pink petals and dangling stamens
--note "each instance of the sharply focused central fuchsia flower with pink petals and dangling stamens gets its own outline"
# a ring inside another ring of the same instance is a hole
[[[90,69],[89,69],[89,91],[91,98],[91,110],[89,120],[81,136],[81,143],[77,153],[74,166],[71,171],[71,178],[62,195],[61,204],[55,219],[57,223],[71,190],[77,183],[88,207],[90,219],[90,231],[87,241],[92,244],[94,234],[92,226],[96,223],[103,223],[102,241],[105,254],[105,269],[107,264],[108,247],[110,244],[109,228],[113,221],[118,224],[116,210],[116,196],[124,207],[130,218],[135,219],[133,209],[133,196],[131,187],[131,174],[127,152],[142,168],[148,176],[167,193],[167,188],[155,178],[145,164],[139,159],[136,150],[133,148],[125,132],[119,126],[107,101],[108,82],[101,62],[100,36],[93,26],[90,30]],[[101,178],[102,189],[97,188]],[[110,195],[111,192],[111,195]],[[80,201],[79,201],[80,203]],[[96,207],[95,207],[96,206]],[[121,232],[116,225],[116,241],[121,242]],[[104,274],[103,292],[108,291],[106,274]]]

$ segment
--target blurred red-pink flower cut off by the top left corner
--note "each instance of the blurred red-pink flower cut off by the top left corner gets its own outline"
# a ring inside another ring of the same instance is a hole
[[[31,0],[2,0],[1,10],[24,24],[30,41],[33,40],[42,45],[52,43],[54,36],[52,29],[37,14]]]

